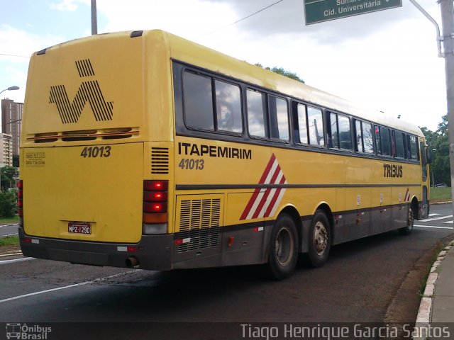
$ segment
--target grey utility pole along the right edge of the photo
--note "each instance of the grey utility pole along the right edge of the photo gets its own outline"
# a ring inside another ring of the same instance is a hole
[[[446,101],[448,103],[449,162],[451,166],[451,195],[454,198],[454,6],[453,0],[440,0],[445,57]],[[453,200],[454,210],[454,200]]]

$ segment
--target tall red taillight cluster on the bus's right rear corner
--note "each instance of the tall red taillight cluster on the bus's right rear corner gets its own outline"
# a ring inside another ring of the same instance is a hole
[[[143,181],[143,234],[167,232],[168,181]]]

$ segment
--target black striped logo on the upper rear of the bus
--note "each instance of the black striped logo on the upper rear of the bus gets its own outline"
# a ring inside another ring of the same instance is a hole
[[[75,62],[79,77],[87,78],[94,76],[92,62],[77,60]],[[114,115],[114,102],[105,101],[97,80],[82,81],[77,94],[70,102],[65,85],[50,86],[49,103],[55,103],[63,124],[77,123],[87,101],[92,108],[94,118],[97,122],[101,120],[112,120]]]

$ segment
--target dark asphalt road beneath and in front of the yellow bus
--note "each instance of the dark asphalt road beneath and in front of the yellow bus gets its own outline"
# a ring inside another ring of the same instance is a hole
[[[454,238],[450,205],[431,213],[409,236],[388,232],[334,246],[326,266],[299,266],[279,282],[249,266],[159,273],[0,258],[0,323],[10,330],[13,323],[47,324],[52,340],[272,339],[253,327],[414,322],[414,287],[431,249]]]

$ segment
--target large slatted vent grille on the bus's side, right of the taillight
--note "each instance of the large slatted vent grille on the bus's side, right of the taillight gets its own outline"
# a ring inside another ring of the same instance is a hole
[[[187,239],[178,245],[178,252],[193,251],[219,243],[221,200],[182,200],[179,220],[179,238]]]

